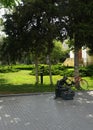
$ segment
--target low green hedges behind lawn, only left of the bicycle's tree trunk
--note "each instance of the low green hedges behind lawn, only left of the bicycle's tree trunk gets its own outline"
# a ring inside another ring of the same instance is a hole
[[[39,64],[38,73],[41,75],[49,75],[49,66],[46,64]],[[35,75],[35,65],[12,65],[12,66],[0,66],[0,73],[18,72],[20,70],[30,70],[30,75]],[[52,75],[73,75],[73,68],[63,66],[62,64],[52,65]]]

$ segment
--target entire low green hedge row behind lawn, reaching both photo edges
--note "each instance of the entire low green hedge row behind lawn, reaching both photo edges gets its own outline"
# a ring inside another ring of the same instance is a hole
[[[29,70],[30,75],[35,75],[35,65],[11,65],[11,66],[0,66],[0,73],[10,73],[10,72],[18,72],[20,70]],[[93,76],[93,65],[80,67],[79,68],[80,75],[83,77]],[[46,64],[39,64],[39,75],[43,72],[43,75],[49,75],[49,66]],[[68,77],[74,76],[74,68],[66,67],[62,64],[52,65],[52,75],[67,75]]]

